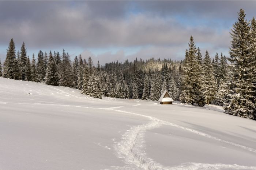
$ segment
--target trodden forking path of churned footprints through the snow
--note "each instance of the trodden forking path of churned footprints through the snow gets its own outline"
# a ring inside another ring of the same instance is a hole
[[[138,106],[138,105],[133,105],[133,106]],[[120,106],[124,107],[124,106]],[[120,108],[120,107],[115,107],[115,108]],[[194,162],[189,162],[189,163],[184,163],[180,166],[176,167],[164,167],[158,162],[155,162],[151,158],[146,157],[146,153],[142,151],[144,147],[144,140],[143,137],[146,133],[147,130],[150,129],[155,129],[158,127],[161,127],[162,125],[167,125],[167,126],[173,126],[177,127],[183,130],[187,130],[191,133],[210,138],[219,142],[227,143],[229,145],[233,145],[236,147],[240,147],[242,149],[251,151],[253,153],[256,153],[256,150],[251,148],[251,147],[246,147],[239,145],[234,142],[229,142],[217,137],[213,137],[211,135],[189,129],[174,123],[170,123],[167,121],[163,121],[157,118],[154,118],[153,116],[147,116],[147,115],[142,115],[142,114],[137,114],[133,112],[127,112],[123,110],[116,110],[115,108],[101,108],[101,109],[106,109],[106,110],[113,110],[117,112],[123,112],[127,114],[133,114],[133,115],[138,115],[138,116],[143,116],[145,118],[150,119],[151,121],[147,124],[142,124],[139,126],[132,126],[125,134],[122,135],[121,141],[115,142],[114,143],[114,149],[117,152],[117,156],[119,158],[123,158],[125,163],[128,165],[128,167],[118,167],[118,166],[112,166],[113,169],[144,169],[144,170],[184,170],[184,169],[204,169],[204,170],[211,170],[211,169],[249,169],[249,170],[256,170],[256,166],[242,166],[242,165],[237,165],[237,164],[223,164],[223,163],[217,163],[217,164],[209,164],[209,163],[194,163]]]

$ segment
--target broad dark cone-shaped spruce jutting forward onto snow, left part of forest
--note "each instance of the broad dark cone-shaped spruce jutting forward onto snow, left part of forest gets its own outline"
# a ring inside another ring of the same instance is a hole
[[[48,66],[47,66],[46,76],[45,76],[45,84],[52,85],[52,86],[59,86],[57,66],[51,51],[49,53]]]

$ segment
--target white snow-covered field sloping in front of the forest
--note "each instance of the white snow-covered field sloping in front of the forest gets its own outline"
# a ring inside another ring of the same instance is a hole
[[[0,170],[256,169],[256,121],[0,78]]]

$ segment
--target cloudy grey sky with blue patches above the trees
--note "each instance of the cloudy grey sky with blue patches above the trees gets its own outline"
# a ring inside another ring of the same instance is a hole
[[[256,1],[0,1],[0,59],[11,38],[27,54],[65,49],[101,64],[184,59],[192,35],[204,56],[228,56],[237,12],[249,21]]]

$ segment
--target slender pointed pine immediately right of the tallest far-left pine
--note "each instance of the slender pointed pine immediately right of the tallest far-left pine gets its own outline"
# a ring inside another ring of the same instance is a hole
[[[27,73],[27,51],[25,47],[25,43],[22,43],[22,47],[20,48],[20,57],[19,57],[19,67],[21,71],[21,79],[26,79],[26,73]]]

